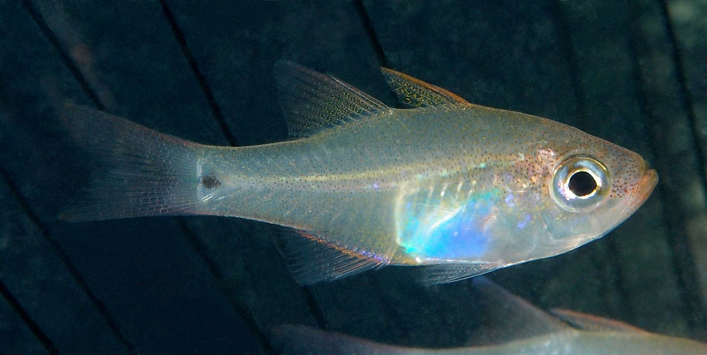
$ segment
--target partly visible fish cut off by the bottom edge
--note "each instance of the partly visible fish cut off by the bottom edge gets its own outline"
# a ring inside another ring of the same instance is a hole
[[[550,313],[510,294],[484,277],[473,281],[484,303],[484,321],[471,332],[472,346],[422,349],[382,344],[304,325],[277,325],[270,344],[285,355],[690,355],[707,354],[707,344],[660,335],[618,320],[564,309]]]

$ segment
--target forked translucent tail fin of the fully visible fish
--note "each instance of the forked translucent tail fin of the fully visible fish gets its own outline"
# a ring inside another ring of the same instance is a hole
[[[103,166],[60,219],[92,221],[150,215],[189,215],[201,203],[197,174],[201,145],[88,107],[69,105],[71,136]]]

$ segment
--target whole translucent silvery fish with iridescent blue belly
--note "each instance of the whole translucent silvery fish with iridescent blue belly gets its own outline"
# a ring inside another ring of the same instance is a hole
[[[102,168],[59,218],[253,219],[281,227],[275,239],[300,284],[385,265],[421,266],[421,283],[443,284],[600,238],[658,181],[636,152],[577,128],[381,71],[409,108],[277,62],[289,138],[247,147],[69,105],[69,134]]]

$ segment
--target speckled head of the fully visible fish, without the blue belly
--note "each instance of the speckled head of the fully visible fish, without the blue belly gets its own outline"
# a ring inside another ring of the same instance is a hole
[[[575,132],[536,150],[535,170],[544,174],[535,176],[525,204],[508,213],[512,223],[496,226],[515,229],[514,245],[525,248],[517,251],[527,253],[525,260],[558,255],[604,236],[630,217],[658,182],[641,155]],[[536,223],[527,223],[530,230],[522,233],[520,221],[528,216]]]

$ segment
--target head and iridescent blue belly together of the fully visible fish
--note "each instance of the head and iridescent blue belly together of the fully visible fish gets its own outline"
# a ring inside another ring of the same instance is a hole
[[[460,183],[445,177],[401,188],[395,216],[404,255],[484,270],[549,258],[604,236],[653,191],[658,174],[641,155],[576,128],[551,128],[556,134],[505,146],[500,163]]]

